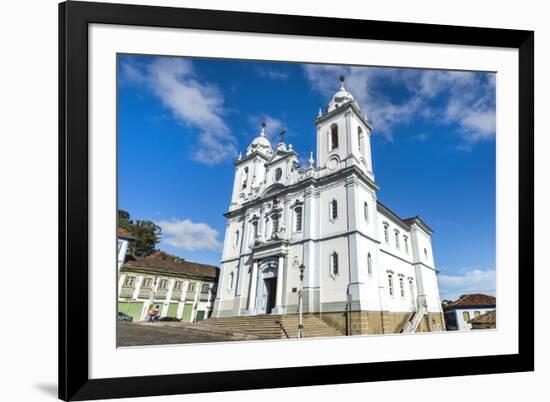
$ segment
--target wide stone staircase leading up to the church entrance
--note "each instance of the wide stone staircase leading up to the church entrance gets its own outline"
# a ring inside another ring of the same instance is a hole
[[[255,315],[225,318],[210,318],[194,324],[197,329],[218,329],[227,332],[249,334],[258,339],[289,339],[297,338],[298,315]],[[304,314],[304,338],[342,336],[336,328],[331,327],[320,318]]]

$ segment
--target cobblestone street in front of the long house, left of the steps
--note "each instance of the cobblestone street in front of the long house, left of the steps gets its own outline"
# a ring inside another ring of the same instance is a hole
[[[117,346],[169,345],[234,341],[223,333],[211,333],[186,328],[179,323],[127,323],[117,322]]]

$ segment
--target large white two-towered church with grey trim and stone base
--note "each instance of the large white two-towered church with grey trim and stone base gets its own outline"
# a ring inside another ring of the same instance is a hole
[[[302,295],[304,314],[352,334],[444,330],[432,230],[378,201],[372,126],[340,80],[316,161],[300,167],[283,136],[273,149],[262,124],[235,162],[213,317],[296,314]]]

